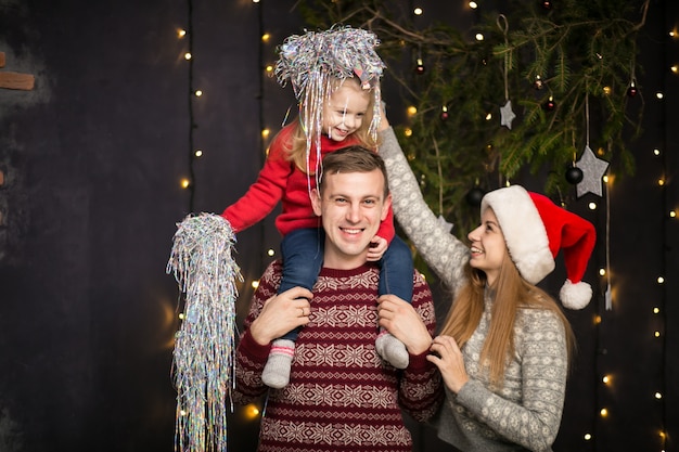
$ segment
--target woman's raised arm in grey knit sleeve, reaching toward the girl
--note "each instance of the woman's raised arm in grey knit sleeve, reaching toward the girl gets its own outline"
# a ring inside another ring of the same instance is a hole
[[[464,281],[469,248],[444,228],[424,202],[394,129],[380,133],[379,152],[386,164],[394,215],[426,263],[457,293]]]

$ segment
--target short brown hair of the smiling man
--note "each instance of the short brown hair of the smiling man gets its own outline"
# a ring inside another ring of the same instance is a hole
[[[363,146],[351,145],[342,147],[323,157],[323,170],[319,182],[319,190],[322,191],[325,175],[337,175],[340,172],[370,172],[379,169],[384,177],[384,197],[389,194],[389,180],[386,176],[384,160],[377,153],[367,150]]]

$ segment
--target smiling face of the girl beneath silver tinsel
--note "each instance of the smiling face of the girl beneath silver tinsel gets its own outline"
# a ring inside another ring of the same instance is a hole
[[[353,79],[342,82],[323,105],[323,133],[334,141],[344,141],[360,129],[368,113],[370,93]]]

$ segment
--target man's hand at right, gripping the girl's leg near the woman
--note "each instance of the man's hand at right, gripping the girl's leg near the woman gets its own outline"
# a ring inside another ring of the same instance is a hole
[[[383,295],[377,300],[379,325],[406,345],[410,354],[426,352],[432,336],[412,305],[396,295]]]

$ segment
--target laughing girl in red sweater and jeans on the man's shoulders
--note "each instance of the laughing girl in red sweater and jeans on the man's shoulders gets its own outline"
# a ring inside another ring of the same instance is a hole
[[[310,290],[322,266],[322,229],[310,193],[321,175],[323,155],[350,144],[376,150],[379,81],[384,67],[374,50],[377,43],[370,31],[341,27],[291,36],[279,50],[276,73],[281,85],[292,83],[299,117],[274,137],[257,181],[222,214],[239,232],[264,219],[282,201],[276,219],[283,236],[279,293],[295,286]],[[380,293],[410,301],[412,256],[395,235],[390,211],[372,244],[369,260],[381,264]],[[287,385],[296,337],[294,331],[273,341],[261,376],[267,386]],[[408,351],[394,336],[382,332],[375,347],[395,367],[408,365]]]

